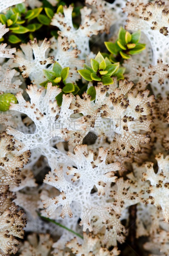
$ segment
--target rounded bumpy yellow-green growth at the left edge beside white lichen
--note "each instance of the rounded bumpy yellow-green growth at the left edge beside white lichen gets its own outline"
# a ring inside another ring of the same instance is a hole
[[[11,103],[17,103],[17,98],[11,93],[3,93],[0,95],[0,111],[7,111]]]

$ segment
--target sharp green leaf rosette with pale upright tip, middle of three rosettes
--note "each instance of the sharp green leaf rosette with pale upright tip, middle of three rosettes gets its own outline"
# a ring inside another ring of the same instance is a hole
[[[112,64],[108,59],[98,52],[95,59],[91,59],[91,67],[84,65],[84,69],[78,70],[78,73],[87,81],[100,81],[104,85],[113,84],[111,76],[117,72],[119,62]]]

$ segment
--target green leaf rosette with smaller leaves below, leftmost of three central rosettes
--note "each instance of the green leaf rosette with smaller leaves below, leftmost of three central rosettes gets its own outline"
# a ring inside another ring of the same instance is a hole
[[[62,68],[61,65],[57,61],[55,61],[53,69],[43,69],[43,73],[48,80],[41,83],[41,86],[47,88],[48,83],[51,82],[53,86],[58,86],[62,89],[62,92],[59,93],[56,97],[58,105],[62,104],[63,94],[70,92],[72,92],[73,94],[77,94],[77,92],[79,91],[79,87],[77,86],[77,84],[66,83],[66,79],[69,75],[69,67]]]

